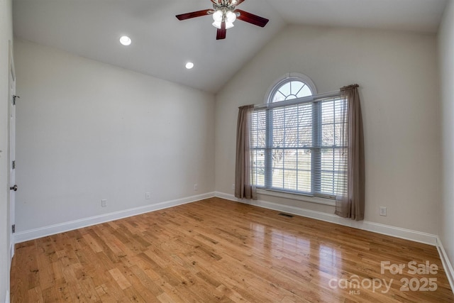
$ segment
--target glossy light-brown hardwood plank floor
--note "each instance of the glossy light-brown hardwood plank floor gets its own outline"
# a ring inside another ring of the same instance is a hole
[[[382,261],[405,268],[382,274]],[[422,272],[426,265],[432,272]],[[18,243],[11,302],[454,302],[454,296],[433,246],[213,198]]]

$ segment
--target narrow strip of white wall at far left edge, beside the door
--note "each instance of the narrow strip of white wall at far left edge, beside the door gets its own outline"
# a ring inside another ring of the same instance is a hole
[[[0,302],[9,291],[8,75],[12,38],[11,0],[0,0]]]

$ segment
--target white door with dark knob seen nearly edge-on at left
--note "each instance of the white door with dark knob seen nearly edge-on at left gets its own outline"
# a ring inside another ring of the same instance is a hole
[[[11,49],[10,49],[11,52]],[[13,224],[15,221],[15,198],[16,198],[16,75],[14,72],[14,65],[12,55],[10,54],[9,60],[9,225],[10,225],[10,260],[14,255],[14,237],[13,237]]]

